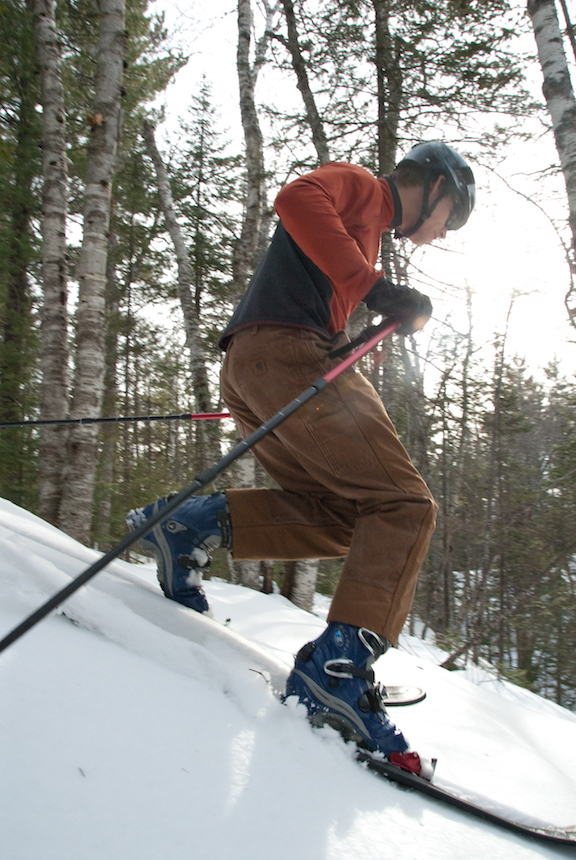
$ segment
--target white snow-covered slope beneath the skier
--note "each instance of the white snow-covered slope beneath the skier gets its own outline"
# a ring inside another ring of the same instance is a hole
[[[0,636],[96,557],[0,501]],[[153,565],[111,567],[155,582]],[[51,615],[0,654],[1,860],[576,856],[367,772],[249,666],[135,614],[98,576],[63,607],[76,623]],[[219,621],[287,666],[324,627],[321,598],[310,615],[217,580],[206,590]],[[403,636],[376,666],[427,690],[393,715],[438,756],[438,782],[575,825],[576,714],[441,660]]]

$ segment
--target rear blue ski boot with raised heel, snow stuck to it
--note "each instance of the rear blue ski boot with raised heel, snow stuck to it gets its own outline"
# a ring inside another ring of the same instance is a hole
[[[126,517],[128,527],[132,531],[139,528],[167,501],[158,499],[145,508],[130,511]],[[202,571],[210,566],[210,550],[232,546],[226,494],[192,496],[140,538],[140,544],[156,559],[158,581],[166,597],[196,612],[209,613]]]

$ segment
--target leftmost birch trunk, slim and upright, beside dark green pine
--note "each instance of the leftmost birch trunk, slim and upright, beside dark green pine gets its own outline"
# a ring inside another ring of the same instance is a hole
[[[42,89],[42,383],[40,417],[65,418],[68,413],[68,259],[66,216],[68,170],[64,87],[54,0],[35,0],[34,29]],[[66,428],[40,432],[38,513],[58,521],[66,458]]]

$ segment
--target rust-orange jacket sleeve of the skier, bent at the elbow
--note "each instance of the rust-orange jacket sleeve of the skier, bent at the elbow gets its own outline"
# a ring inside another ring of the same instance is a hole
[[[290,182],[276,198],[287,232],[339,292],[361,301],[381,277],[383,190],[367,170],[332,162]]]

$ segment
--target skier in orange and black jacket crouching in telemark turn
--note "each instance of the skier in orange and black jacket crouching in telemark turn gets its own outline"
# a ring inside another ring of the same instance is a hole
[[[429,298],[376,268],[381,234],[429,244],[462,227],[474,200],[470,167],[438,141],[415,146],[389,177],[332,162],[280,191],[276,231],[220,341],[221,390],[244,437],[335,366],[330,354],[348,342],[359,302],[404,335],[426,323]],[[146,535],[165,594],[208,612],[202,568],[217,546],[235,559],[345,557],[328,625],[297,654],[286,695],[306,705],[312,722],[420,773],[419,756],[384,710],[372,664],[396,645],[411,608],[435,527],[428,487],[355,368],[254,453],[281,489],[192,497]],[[164,504],[131,511],[130,527]]]

